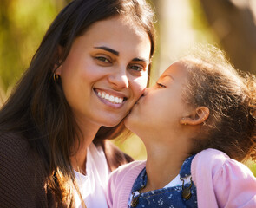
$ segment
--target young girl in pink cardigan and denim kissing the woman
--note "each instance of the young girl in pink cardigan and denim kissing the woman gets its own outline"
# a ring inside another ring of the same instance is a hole
[[[256,207],[256,84],[210,47],[172,64],[125,120],[148,159],[121,166],[109,207]]]

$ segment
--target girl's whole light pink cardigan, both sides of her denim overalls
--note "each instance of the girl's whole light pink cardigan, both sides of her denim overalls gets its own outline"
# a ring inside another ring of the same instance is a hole
[[[110,208],[127,208],[135,179],[146,161],[135,161],[112,172],[107,200]],[[248,167],[225,153],[207,149],[197,153],[191,165],[199,208],[255,208],[256,179]]]

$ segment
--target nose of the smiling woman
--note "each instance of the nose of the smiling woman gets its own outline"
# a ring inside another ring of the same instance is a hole
[[[108,81],[115,86],[115,88],[128,88],[129,81],[126,70],[119,70],[108,76]]]

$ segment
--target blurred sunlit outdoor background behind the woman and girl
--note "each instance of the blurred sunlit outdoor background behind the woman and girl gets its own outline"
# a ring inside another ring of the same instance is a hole
[[[43,35],[69,0],[0,1],[0,106],[28,68]],[[256,72],[255,0],[152,0],[157,50],[151,84],[174,60],[196,43],[226,51],[235,68]],[[134,159],[146,159],[135,135],[115,144]],[[253,162],[247,164],[256,173]]]

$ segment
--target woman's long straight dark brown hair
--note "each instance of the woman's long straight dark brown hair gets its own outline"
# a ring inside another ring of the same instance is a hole
[[[30,67],[0,111],[0,133],[16,133],[28,140],[43,159],[46,183],[59,206],[75,205],[75,175],[69,156],[72,154],[70,147],[74,146],[77,138],[81,138],[81,131],[65,99],[61,81],[54,81],[53,73],[55,67],[69,55],[77,36],[82,36],[92,23],[119,15],[130,16],[134,23],[147,31],[152,56],[154,15],[144,0],[74,0],[56,16],[33,56]],[[58,54],[60,46],[61,57]],[[103,140],[113,134],[119,135],[122,130],[122,126],[102,127],[95,137],[95,144],[102,145],[106,151],[108,148]],[[111,156],[112,159],[107,157],[111,166],[121,164],[116,155]]]

